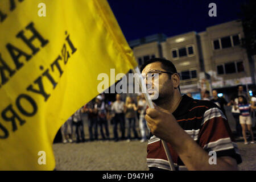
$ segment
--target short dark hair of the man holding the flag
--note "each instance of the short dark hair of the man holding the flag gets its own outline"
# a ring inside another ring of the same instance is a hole
[[[141,66],[141,72],[146,67],[146,65],[155,63],[155,62],[160,62],[161,67],[165,71],[171,72],[171,73],[177,73],[177,69],[175,68],[175,65],[171,61],[169,61],[167,59],[163,59],[163,58],[156,58],[156,57],[146,60],[145,63]]]

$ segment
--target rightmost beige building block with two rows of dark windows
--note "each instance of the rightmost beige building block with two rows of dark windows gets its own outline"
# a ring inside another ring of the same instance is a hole
[[[200,34],[205,72],[212,74],[213,88],[253,84],[247,53],[241,47],[244,37],[240,22],[208,27]]]

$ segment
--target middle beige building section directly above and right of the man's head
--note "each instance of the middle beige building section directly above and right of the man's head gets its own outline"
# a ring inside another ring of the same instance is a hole
[[[180,75],[180,89],[183,93],[199,94],[198,82],[201,67],[200,47],[196,32],[188,32],[167,38],[161,43],[163,57],[174,63]]]

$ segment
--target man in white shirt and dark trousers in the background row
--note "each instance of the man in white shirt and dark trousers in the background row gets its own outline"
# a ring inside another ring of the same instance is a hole
[[[125,103],[121,100],[120,94],[115,96],[116,101],[112,104],[111,110],[115,113],[114,116],[114,139],[115,142],[119,140],[117,133],[117,125],[120,124],[120,129],[122,133],[121,139],[125,139],[125,115],[123,113]]]

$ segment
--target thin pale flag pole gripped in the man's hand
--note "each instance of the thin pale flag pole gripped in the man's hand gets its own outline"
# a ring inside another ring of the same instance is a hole
[[[146,98],[148,107],[154,108],[153,102],[152,102],[150,96],[148,95],[146,84],[144,83],[144,80],[142,78],[141,71],[139,71],[138,67],[134,68],[134,73],[135,73],[134,74],[135,79],[137,80],[139,87],[142,89],[142,93],[144,94],[144,97]],[[164,151],[166,152],[166,156],[167,156],[171,171],[175,171],[174,162],[172,161],[172,157],[171,157],[170,151],[168,150],[167,143],[164,140],[162,140],[162,143],[163,143]]]

